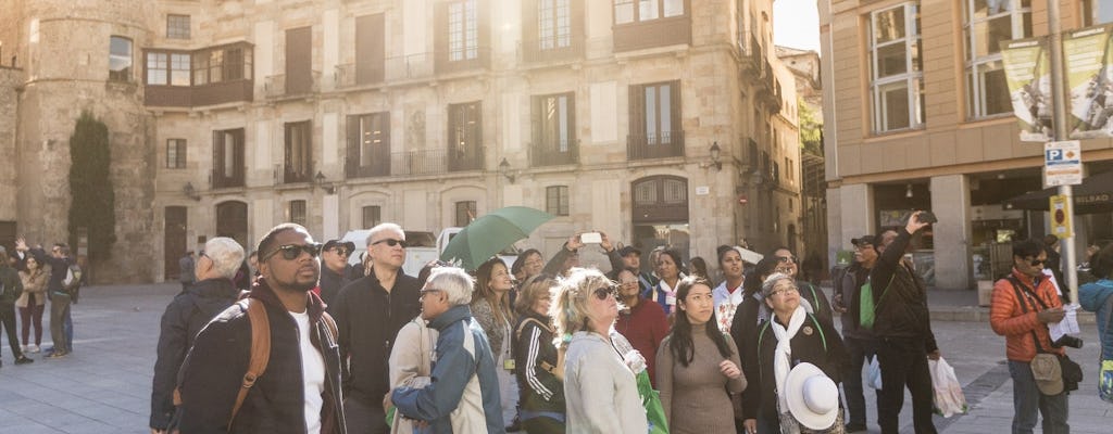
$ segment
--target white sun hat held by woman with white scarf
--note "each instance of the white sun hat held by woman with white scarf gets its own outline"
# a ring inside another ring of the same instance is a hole
[[[819,367],[800,363],[785,379],[788,411],[800,425],[827,430],[838,416],[838,386]]]

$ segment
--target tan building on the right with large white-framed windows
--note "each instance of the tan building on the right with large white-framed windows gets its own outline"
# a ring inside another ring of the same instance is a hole
[[[1058,3],[1064,31],[1113,11],[1107,0]],[[1045,212],[1003,206],[1043,188],[1043,144],[1018,139],[998,48],[1046,36],[1046,2],[834,0],[819,12],[831,254],[929,209],[939,223],[915,254],[928,280],[994,279],[993,243],[1047,233]],[[1113,141],[1083,141],[1083,161],[1109,171]],[[1109,213],[1075,223],[1080,253],[1113,239]]]

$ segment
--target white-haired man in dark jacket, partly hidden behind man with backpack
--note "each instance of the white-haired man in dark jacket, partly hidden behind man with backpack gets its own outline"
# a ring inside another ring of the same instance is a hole
[[[158,335],[158,359],[150,393],[150,430],[165,433],[174,416],[174,386],[178,369],[194,337],[214,316],[236,301],[233,286],[244,261],[244,248],[230,238],[217,236],[205,243],[205,253],[197,260],[195,284],[174,297],[162,313],[162,331]]]

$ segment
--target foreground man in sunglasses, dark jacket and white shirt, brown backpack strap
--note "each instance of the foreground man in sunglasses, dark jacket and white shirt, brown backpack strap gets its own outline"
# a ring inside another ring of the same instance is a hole
[[[252,303],[266,309],[270,356],[230,420],[252,353],[252,323],[235,304],[201,330],[178,375],[183,433],[344,434],[341,355],[321,297],[321,244],[284,223],[258,245],[262,276]]]

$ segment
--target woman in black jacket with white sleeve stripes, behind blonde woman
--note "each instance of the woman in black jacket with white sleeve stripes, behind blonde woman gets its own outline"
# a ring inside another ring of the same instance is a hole
[[[519,414],[530,434],[564,432],[564,374],[558,371],[559,352],[549,317],[556,277],[538,274],[525,281],[514,301],[514,373],[521,387]]]

